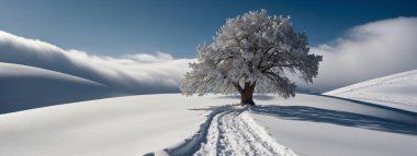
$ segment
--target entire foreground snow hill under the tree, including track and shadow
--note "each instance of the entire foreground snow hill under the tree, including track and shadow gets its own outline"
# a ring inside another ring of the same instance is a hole
[[[326,96],[140,95],[0,115],[0,155],[415,155],[415,112]]]

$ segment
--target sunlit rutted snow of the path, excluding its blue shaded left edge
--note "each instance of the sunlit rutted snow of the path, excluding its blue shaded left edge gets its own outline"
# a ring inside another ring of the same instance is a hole
[[[207,142],[195,155],[295,155],[278,144],[245,109],[226,109],[215,116],[214,121],[208,129]]]

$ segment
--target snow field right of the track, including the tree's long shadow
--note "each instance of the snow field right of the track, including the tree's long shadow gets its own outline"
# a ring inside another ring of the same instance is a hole
[[[297,95],[251,117],[302,156],[408,156],[417,146],[417,113],[372,104]]]

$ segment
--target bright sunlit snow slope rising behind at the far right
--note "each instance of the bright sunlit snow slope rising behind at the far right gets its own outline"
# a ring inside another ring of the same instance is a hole
[[[324,93],[324,95],[417,112],[417,70],[357,83]]]

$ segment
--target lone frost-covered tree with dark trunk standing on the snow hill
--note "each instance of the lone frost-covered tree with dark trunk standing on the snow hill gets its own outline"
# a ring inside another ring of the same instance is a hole
[[[306,83],[317,75],[322,56],[308,51],[307,36],[294,31],[290,17],[250,11],[228,19],[211,45],[198,47],[199,61],[190,63],[180,87],[185,95],[238,92],[241,105],[255,105],[253,92],[293,97],[289,75]]]

